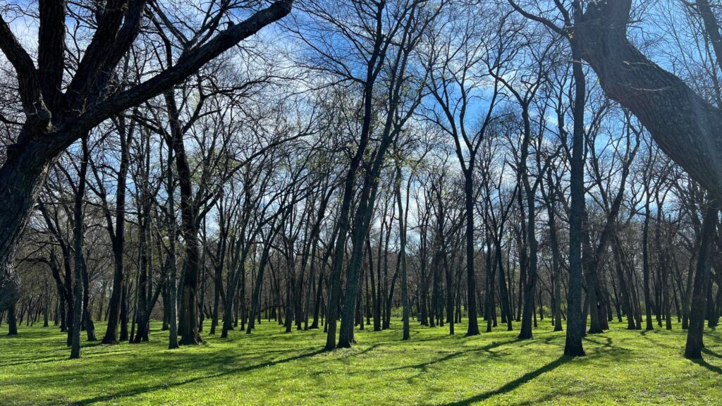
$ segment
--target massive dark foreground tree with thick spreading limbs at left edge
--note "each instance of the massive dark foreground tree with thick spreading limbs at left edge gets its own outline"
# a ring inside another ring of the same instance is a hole
[[[43,1],[38,13],[38,61],[22,48],[8,23],[0,19],[0,51],[14,68],[25,123],[8,147],[0,167],[0,310],[12,306],[20,286],[14,254],[48,170],[69,145],[88,131],[134,105],[183,82],[206,62],[290,13],[292,0],[275,1],[238,24],[219,30],[230,3],[208,10],[211,18],[172,67],[145,82],[113,93],[113,73],[142,30],[144,0],[113,0],[97,16],[97,28],[76,71],[64,87],[66,61],[66,2]],[[162,13],[158,13],[162,14]],[[157,15],[162,20],[162,15]],[[174,27],[168,25],[168,30]],[[212,35],[217,33],[216,35]]]

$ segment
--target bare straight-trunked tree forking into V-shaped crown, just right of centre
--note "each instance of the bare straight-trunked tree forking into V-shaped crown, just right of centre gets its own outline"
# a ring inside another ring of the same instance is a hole
[[[427,51],[427,69],[429,81],[427,87],[435,100],[435,105],[427,108],[427,119],[442,129],[453,139],[456,147],[456,157],[461,172],[464,174],[464,204],[466,210],[466,301],[468,303],[469,325],[466,335],[479,334],[477,321],[477,288],[474,274],[474,197],[476,181],[474,169],[476,168],[477,153],[486,135],[487,128],[495,121],[494,110],[500,97],[501,84],[497,76],[484,72],[482,64],[486,61],[489,71],[498,72],[501,65],[496,59],[497,52],[493,23],[484,27],[470,25],[464,21],[457,21],[453,16],[456,12],[474,12],[464,9],[453,9],[451,14],[440,23],[438,33],[432,36]],[[484,39],[488,36],[489,38]],[[438,38],[438,39],[434,39]],[[441,38],[448,38],[448,43]],[[482,120],[474,128],[469,122],[468,114],[471,103],[482,97],[479,94],[479,83],[492,77],[491,95],[487,98],[486,111]]]

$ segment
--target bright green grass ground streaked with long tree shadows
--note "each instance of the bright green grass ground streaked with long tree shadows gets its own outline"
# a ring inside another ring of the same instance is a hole
[[[198,347],[83,342],[69,360],[56,328],[19,327],[0,337],[0,405],[720,405],[722,334],[705,334],[704,359],[682,358],[685,332],[627,331],[586,337],[588,356],[562,357],[564,333],[547,321],[534,339],[502,327],[477,337],[448,327],[357,333],[353,349],[323,353],[323,331],[285,334],[264,321]],[[484,324],[485,327],[485,324]],[[518,328],[518,324],[515,325]],[[656,326],[655,326],[656,327]],[[6,327],[3,327],[4,329]],[[206,321],[207,328],[207,321]],[[105,331],[97,324],[98,335]]]

